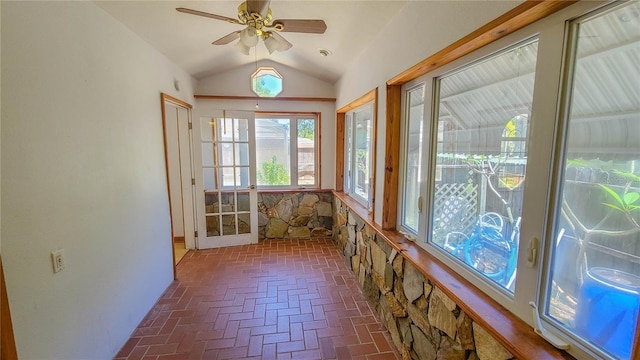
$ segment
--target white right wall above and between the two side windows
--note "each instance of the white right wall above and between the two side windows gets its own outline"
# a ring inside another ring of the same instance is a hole
[[[336,84],[338,109],[378,87],[376,222],[382,222],[386,82],[521,2],[408,1]]]

